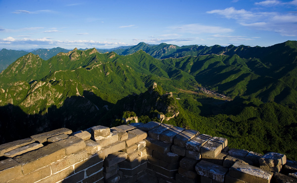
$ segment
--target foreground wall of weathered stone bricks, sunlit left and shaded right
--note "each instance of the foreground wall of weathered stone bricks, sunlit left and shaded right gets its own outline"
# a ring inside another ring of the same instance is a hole
[[[297,183],[297,162],[158,122],[61,128],[0,145],[0,183]]]

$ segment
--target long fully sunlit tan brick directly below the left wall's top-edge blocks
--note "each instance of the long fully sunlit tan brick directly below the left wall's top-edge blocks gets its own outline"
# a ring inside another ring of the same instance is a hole
[[[85,159],[88,158],[88,153],[86,150],[81,150],[75,154],[70,154],[69,156],[66,156],[62,159],[59,159],[56,162],[53,162],[50,164],[51,166],[51,171],[53,174],[56,172],[59,172],[69,166],[72,166],[76,163],[79,163]]]

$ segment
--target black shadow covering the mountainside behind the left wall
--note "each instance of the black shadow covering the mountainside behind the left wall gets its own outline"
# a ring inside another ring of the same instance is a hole
[[[96,125],[107,112],[104,106],[112,107],[113,104],[92,92],[84,91],[83,94],[67,98],[60,108],[49,107],[46,114],[27,114],[12,104],[1,106],[0,144],[63,127],[78,131]]]

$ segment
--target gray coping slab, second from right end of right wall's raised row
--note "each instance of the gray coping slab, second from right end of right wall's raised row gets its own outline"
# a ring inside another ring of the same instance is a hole
[[[186,143],[188,150],[200,152],[201,146],[212,138],[210,135],[200,134]]]

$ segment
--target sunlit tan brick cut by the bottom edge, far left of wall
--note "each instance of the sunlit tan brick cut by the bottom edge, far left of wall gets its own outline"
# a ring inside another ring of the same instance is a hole
[[[18,177],[10,181],[9,183],[35,183],[48,176],[50,176],[50,166],[31,172],[30,174]]]

